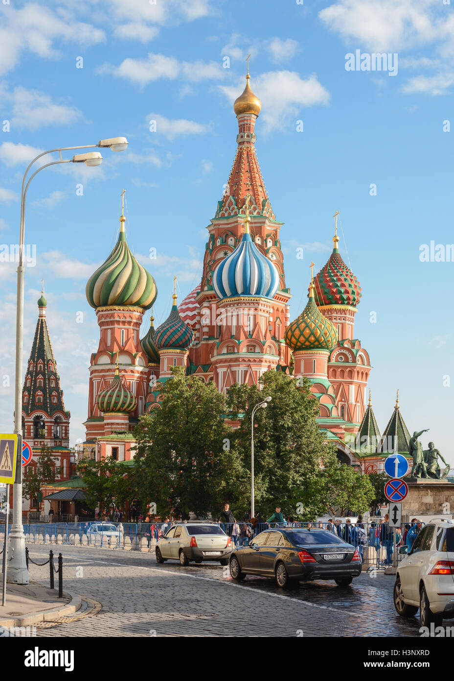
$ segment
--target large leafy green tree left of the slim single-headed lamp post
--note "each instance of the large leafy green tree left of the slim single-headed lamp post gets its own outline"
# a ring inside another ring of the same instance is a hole
[[[224,396],[210,381],[186,377],[181,368],[162,387],[160,408],[143,415],[135,430],[135,471],[142,508],[156,503],[160,516],[204,515],[219,502],[222,452],[232,429]]]

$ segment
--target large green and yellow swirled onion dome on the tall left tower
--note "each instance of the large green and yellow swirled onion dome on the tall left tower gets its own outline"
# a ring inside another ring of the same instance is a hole
[[[94,308],[134,305],[147,310],[156,300],[158,289],[150,272],[130,252],[123,223],[124,220],[114,250],[105,263],[90,276],[86,285],[86,297]]]

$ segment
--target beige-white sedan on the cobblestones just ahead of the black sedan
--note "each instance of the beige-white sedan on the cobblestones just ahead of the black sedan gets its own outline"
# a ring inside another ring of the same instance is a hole
[[[232,539],[219,525],[213,522],[177,523],[170,528],[165,537],[156,544],[156,561],[173,558],[180,565],[188,565],[191,560],[218,560],[228,565],[232,552]]]

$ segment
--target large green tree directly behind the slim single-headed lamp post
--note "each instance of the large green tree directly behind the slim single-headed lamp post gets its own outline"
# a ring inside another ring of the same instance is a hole
[[[227,402],[239,428],[232,449],[224,455],[224,485],[234,512],[249,509],[251,487],[251,412],[266,396],[266,409],[254,417],[255,506],[263,516],[280,505],[286,516],[313,517],[319,506],[313,492],[321,475],[321,462],[332,451],[324,443],[315,415],[317,401],[309,392],[309,381],[299,385],[277,371],[268,371],[256,385],[235,384]]]

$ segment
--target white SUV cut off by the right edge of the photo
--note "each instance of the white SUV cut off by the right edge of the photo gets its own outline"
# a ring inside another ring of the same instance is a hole
[[[399,549],[407,551],[407,546]],[[421,529],[398,566],[394,607],[402,617],[419,609],[423,627],[454,617],[454,524],[434,520]]]

